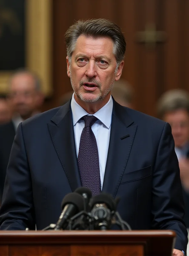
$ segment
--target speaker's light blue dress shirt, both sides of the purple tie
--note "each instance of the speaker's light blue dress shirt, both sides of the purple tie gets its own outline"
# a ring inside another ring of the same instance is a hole
[[[81,137],[81,132],[85,126],[84,120],[81,117],[89,115],[85,109],[83,109],[74,99],[74,94],[71,100],[72,116],[73,116],[73,129],[75,136],[76,153],[78,156],[79,152],[79,142]],[[106,160],[108,155],[108,147],[110,141],[110,130],[111,130],[111,116],[113,109],[113,100],[110,96],[110,100],[99,109],[93,116],[97,117],[97,120],[92,125],[92,131],[96,138],[96,143],[98,147],[99,165],[100,165],[100,177],[101,177],[101,189],[103,186],[104,173],[106,167]]]

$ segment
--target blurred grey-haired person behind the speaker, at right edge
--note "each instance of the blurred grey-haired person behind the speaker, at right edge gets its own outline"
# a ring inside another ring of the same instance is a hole
[[[178,89],[165,92],[158,101],[157,111],[172,128],[184,190],[185,223],[189,228],[189,93]]]

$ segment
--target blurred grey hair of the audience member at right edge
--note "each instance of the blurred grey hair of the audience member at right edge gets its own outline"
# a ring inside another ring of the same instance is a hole
[[[189,93],[181,89],[165,92],[157,103],[157,114],[159,118],[167,112],[185,109],[189,113]]]

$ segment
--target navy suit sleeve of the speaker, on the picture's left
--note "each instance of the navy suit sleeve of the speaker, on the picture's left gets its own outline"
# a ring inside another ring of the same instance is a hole
[[[7,167],[2,206],[0,208],[0,230],[35,229],[34,216],[30,169],[22,124],[19,124]]]

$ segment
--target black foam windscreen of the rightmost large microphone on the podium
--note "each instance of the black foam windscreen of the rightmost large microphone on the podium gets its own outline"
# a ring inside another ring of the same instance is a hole
[[[93,208],[95,204],[103,203],[106,204],[111,211],[116,211],[116,202],[110,194],[102,192],[101,194],[92,197],[90,200],[91,208]]]

